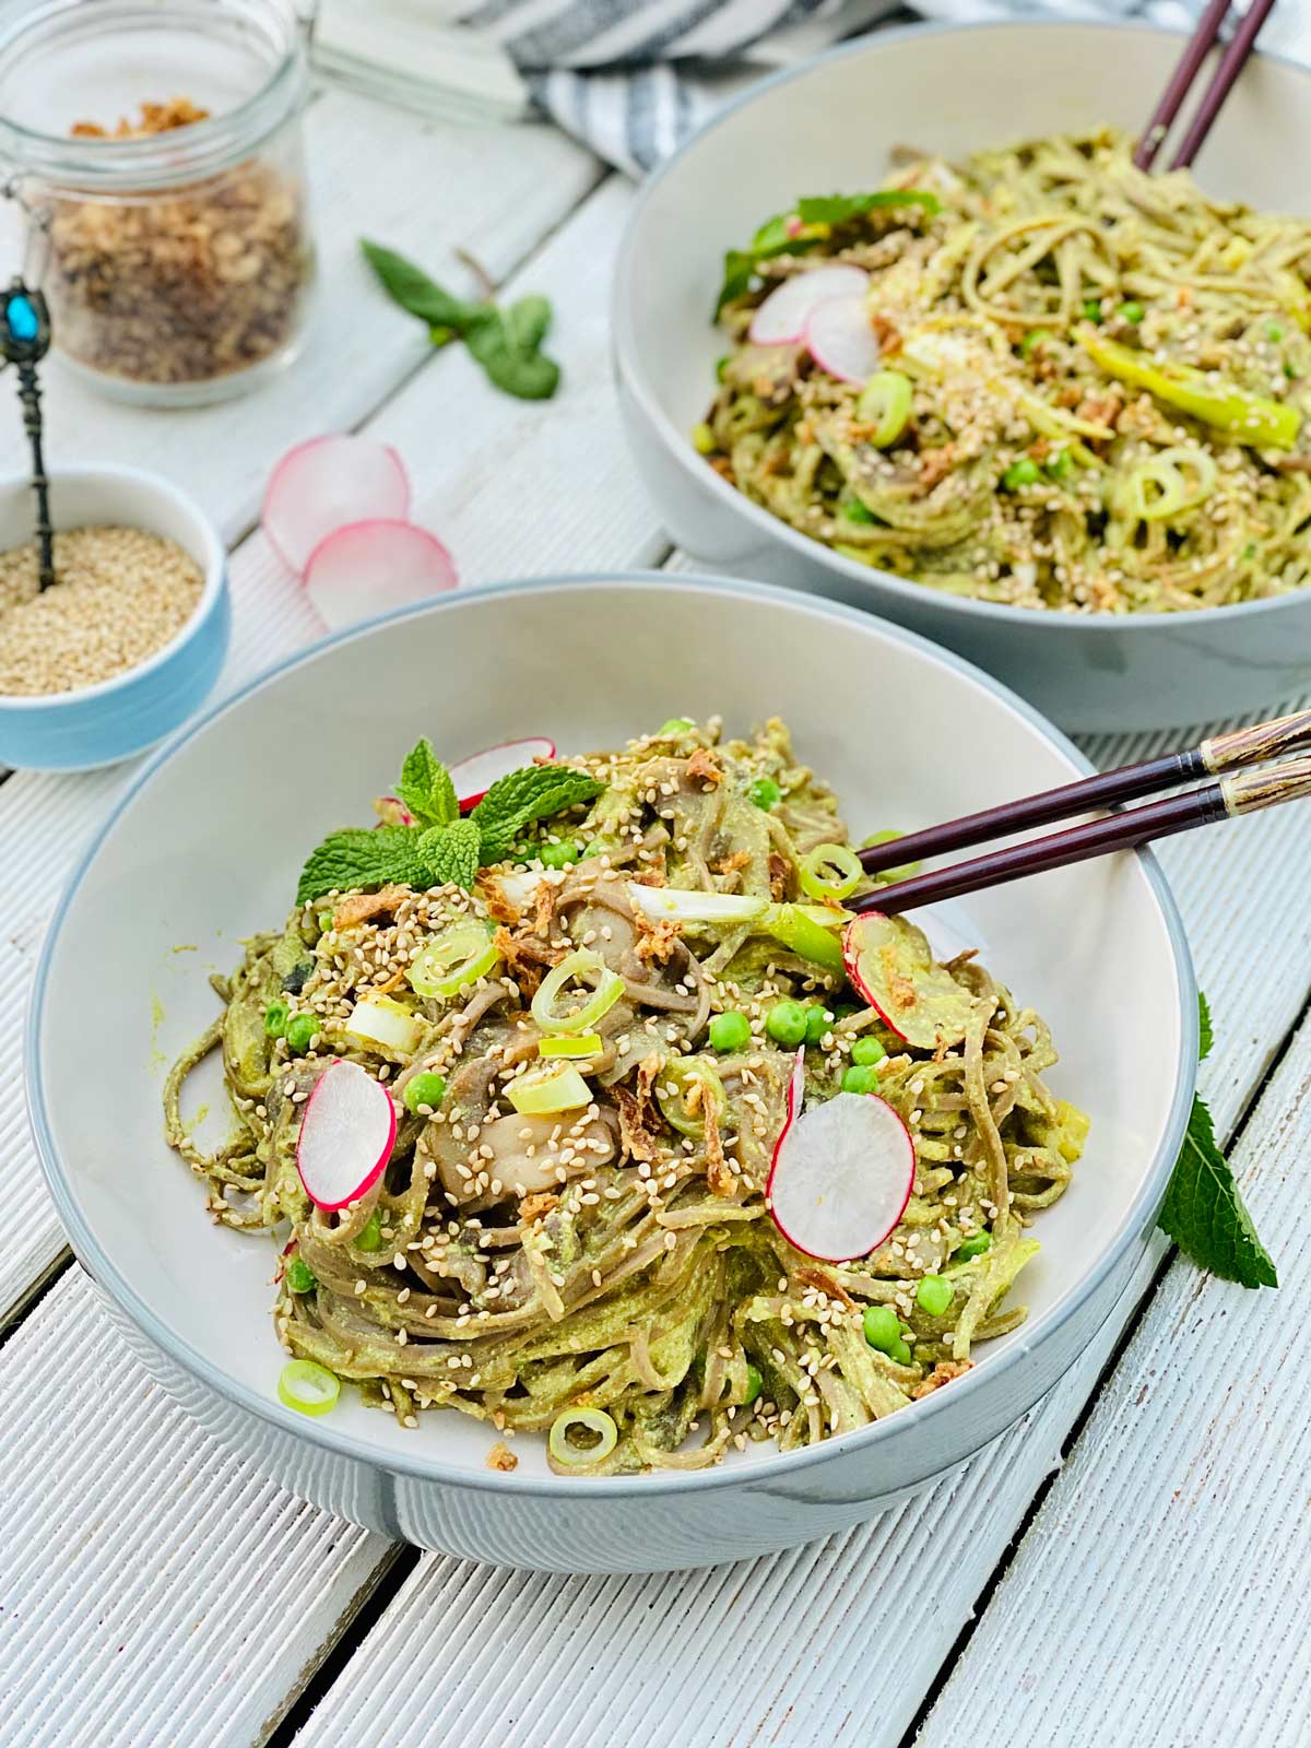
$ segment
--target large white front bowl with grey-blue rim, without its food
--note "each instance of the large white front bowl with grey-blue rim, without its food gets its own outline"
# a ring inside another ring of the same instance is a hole
[[[738,729],[781,713],[865,829],[923,825],[1087,769],[995,682],[846,607],[669,575],[517,584],[346,633],[220,704],[133,787],[59,905],[28,1073],[72,1243],[147,1369],[232,1449],[344,1517],[566,1571],[692,1566],[825,1535],[1010,1426],[1077,1358],[1141,1252],[1183,1133],[1197,1028],[1161,872],[1122,855],[968,907],[970,939],[1051,1021],[1054,1086],[1091,1112],[1092,1133],[1073,1189],[1040,1222],[1031,1320],[949,1390],[815,1451],[598,1481],[551,1475],[531,1439],[517,1440],[514,1474],[493,1474],[491,1432],[458,1414],[404,1432],[351,1391],[323,1419],[278,1404],[273,1248],[213,1227],[161,1138],[163,1058],[217,1012],[206,970],[281,921],[306,848],[367,820],[420,734],[449,759],[521,734],[580,750],[715,710]],[[285,755],[271,771],[269,748],[297,746],[302,778]],[[94,1049],[70,1047],[87,1037]]]

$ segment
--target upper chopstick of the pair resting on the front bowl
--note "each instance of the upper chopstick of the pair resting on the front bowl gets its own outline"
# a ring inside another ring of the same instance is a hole
[[[921,862],[951,850],[970,850],[974,844],[986,844],[993,837],[1009,837],[1012,832],[1024,832],[1035,825],[1056,825],[1058,820],[1070,820],[1077,813],[1112,808],[1120,801],[1138,801],[1143,795],[1155,795],[1162,788],[1173,788],[1176,783],[1190,783],[1194,778],[1264,764],[1267,759],[1280,759],[1301,752],[1304,746],[1311,746],[1311,710],[1294,711],[1292,717],[1276,717],[1273,722],[1257,722],[1250,729],[1234,729],[1231,734],[1217,734],[1187,752],[1164,753],[1159,759],[1143,759],[1140,764],[1120,766],[1115,771],[1101,771],[1098,776],[1086,776],[1077,783],[1063,783],[1059,788],[1047,788],[1038,795],[1007,801],[998,808],[984,808],[981,813],[967,813],[960,820],[930,825],[923,832],[872,844],[869,850],[858,851],[860,865],[867,874],[881,874],[904,862]]]

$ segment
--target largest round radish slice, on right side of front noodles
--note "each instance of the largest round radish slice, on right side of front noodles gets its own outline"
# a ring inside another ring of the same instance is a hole
[[[820,1262],[851,1262],[897,1227],[914,1185],[914,1143],[876,1092],[839,1092],[790,1122],[766,1203],[783,1238]]]

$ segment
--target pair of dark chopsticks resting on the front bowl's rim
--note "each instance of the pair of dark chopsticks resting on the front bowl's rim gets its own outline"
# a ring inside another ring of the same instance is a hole
[[[1112,808],[1124,801],[1155,795],[1194,778],[1211,780],[1182,795],[1148,802],[1145,808],[1110,813],[1101,820],[1072,825],[1066,832],[1031,837],[1023,844],[958,862],[954,867],[895,881],[858,898],[848,909],[883,911],[893,916],[912,905],[960,898],[982,886],[1002,886],[1028,874],[1087,862],[1115,850],[1133,850],[1154,837],[1192,830],[1194,825],[1211,825],[1217,820],[1255,813],[1259,808],[1297,801],[1311,795],[1311,755],[1304,753],[1301,759],[1285,755],[1308,746],[1311,746],[1311,710],[1299,710],[1292,717],[1276,717],[1250,729],[1218,734],[1187,752],[1120,766],[1117,771],[1103,771],[1099,776],[1063,783],[1040,795],[1026,795],[1023,801],[1009,801],[1000,808],[968,813],[944,825],[930,825],[925,832],[874,844],[858,851],[867,874],[881,874],[884,869],[919,862],[923,857],[940,857],[949,850],[968,850],[1035,825],[1054,825],[1058,820],[1070,820],[1094,808]],[[1271,764],[1271,760],[1281,762]],[[1266,769],[1250,769],[1252,766]]]

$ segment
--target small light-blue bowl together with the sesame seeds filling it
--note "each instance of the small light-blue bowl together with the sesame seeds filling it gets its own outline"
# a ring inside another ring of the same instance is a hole
[[[0,766],[82,771],[203,703],[227,652],[225,556],[199,507],[140,468],[59,468],[51,510],[42,594],[31,482],[0,481]]]

